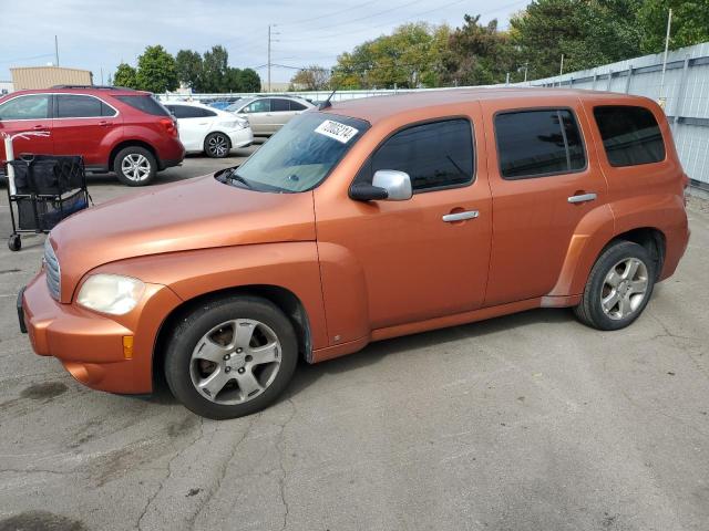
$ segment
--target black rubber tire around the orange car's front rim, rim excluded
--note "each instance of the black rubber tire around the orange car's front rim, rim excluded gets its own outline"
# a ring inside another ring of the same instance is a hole
[[[195,389],[189,375],[192,352],[209,330],[232,319],[254,319],[268,325],[281,346],[280,368],[274,382],[259,396],[245,404],[223,405],[204,398]],[[220,420],[259,412],[271,404],[287,387],[298,362],[298,341],[288,317],[270,302],[251,296],[229,298],[205,303],[179,321],[165,356],[165,378],[173,395],[189,410]]]

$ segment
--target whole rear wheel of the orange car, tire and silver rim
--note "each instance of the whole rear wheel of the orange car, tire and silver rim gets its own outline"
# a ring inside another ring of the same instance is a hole
[[[647,249],[618,241],[596,260],[574,313],[582,323],[597,330],[625,329],[647,306],[656,278],[655,261]]]

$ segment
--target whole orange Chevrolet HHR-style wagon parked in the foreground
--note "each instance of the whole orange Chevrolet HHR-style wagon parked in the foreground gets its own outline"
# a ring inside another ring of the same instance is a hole
[[[338,103],[238,168],[60,223],[18,299],[34,351],[83,384],[163,373],[212,418],[271,403],[299,356],[540,306],[635,321],[689,237],[661,108],[481,88]]]

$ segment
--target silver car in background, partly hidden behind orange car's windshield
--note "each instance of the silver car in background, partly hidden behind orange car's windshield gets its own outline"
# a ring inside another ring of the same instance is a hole
[[[240,100],[235,106],[227,108],[238,115],[248,116],[254,135],[268,136],[280,129],[294,116],[315,108],[315,105],[300,97],[265,96]]]

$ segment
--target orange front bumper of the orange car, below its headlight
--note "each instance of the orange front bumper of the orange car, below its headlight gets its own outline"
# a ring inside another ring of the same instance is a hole
[[[21,292],[18,313],[33,351],[56,357],[82,384],[112,393],[145,394],[153,387],[153,351],[160,326],[179,303],[168,288],[146,284],[143,300],[127,315],[102,315],[56,302],[41,272]],[[133,337],[130,356],[124,337]]]

